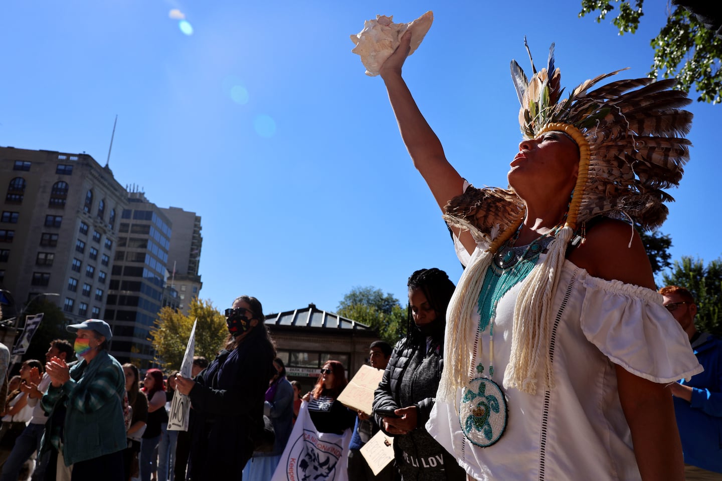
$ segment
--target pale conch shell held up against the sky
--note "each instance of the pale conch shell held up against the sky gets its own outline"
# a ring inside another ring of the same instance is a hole
[[[361,56],[361,62],[366,67],[366,75],[376,76],[386,58],[390,57],[393,50],[399,46],[399,39],[406,30],[412,32],[411,50],[409,50],[411,55],[424,40],[433,21],[434,13],[431,10],[409,23],[393,23],[393,15],[391,17],[376,15],[375,20],[364,22],[363,30],[351,35],[352,42],[356,44],[351,51]]]

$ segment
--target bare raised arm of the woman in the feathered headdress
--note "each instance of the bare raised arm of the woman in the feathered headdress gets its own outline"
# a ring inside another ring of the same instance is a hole
[[[410,43],[411,32],[406,32],[401,37],[399,48],[381,66],[380,75],[386,84],[388,100],[399,123],[401,138],[414,161],[414,167],[424,177],[436,203],[443,210],[451,198],[462,193],[464,179],[446,160],[439,138],[419,111],[401,76],[401,68],[409,55]],[[453,230],[458,236],[458,229]],[[469,253],[474,252],[476,244],[469,232],[462,232],[460,240]]]

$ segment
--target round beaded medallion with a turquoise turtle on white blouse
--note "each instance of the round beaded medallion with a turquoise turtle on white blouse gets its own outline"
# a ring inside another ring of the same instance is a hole
[[[499,441],[506,429],[504,393],[491,379],[471,379],[461,392],[458,406],[461,431],[471,443],[485,448]]]

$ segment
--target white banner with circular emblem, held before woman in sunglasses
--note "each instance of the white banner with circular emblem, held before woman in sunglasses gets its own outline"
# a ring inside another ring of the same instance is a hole
[[[319,433],[303,402],[271,481],[348,481],[351,430]]]

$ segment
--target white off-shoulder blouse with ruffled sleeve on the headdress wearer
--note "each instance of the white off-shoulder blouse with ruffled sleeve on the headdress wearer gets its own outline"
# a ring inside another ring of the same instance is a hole
[[[461,247],[458,244],[458,247]],[[469,255],[457,249],[469,265]],[[474,256],[481,250],[477,248]],[[500,300],[494,327],[492,380],[499,386],[511,348],[518,283]],[[471,444],[454,406],[437,399],[426,428],[476,480],[640,480],[630,428],[617,392],[614,364],[637,376],[670,383],[701,372],[687,335],[648,288],[594,278],[565,261],[554,295],[555,387],[536,394],[503,389],[506,431],[496,444]],[[476,314],[473,322],[479,322]],[[474,340],[446,340],[446,342]],[[474,366],[489,364],[488,330]],[[456,396],[456,407],[461,389]],[[671,435],[672,433],[670,433]]]

